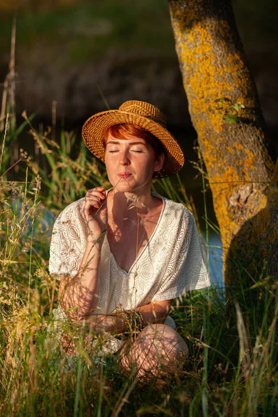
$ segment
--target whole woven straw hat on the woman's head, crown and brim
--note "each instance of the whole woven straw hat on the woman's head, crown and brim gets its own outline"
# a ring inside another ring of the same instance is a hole
[[[86,120],[82,136],[90,152],[104,162],[102,139],[107,129],[115,124],[129,123],[142,127],[152,133],[163,145],[165,161],[156,177],[170,177],[177,174],[184,163],[181,147],[166,129],[165,115],[152,104],[145,101],[125,101],[119,110],[102,111]]]

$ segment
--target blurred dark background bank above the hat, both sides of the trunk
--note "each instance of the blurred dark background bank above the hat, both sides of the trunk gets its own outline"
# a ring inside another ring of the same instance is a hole
[[[276,129],[276,2],[233,4],[265,119]],[[145,97],[165,111],[172,126],[180,131],[190,126],[167,0],[159,6],[155,0],[1,1],[2,80],[8,71],[15,10],[18,114],[26,109],[49,120],[56,100],[58,115],[71,129],[105,108],[97,84],[112,107],[130,97]],[[185,146],[186,136],[181,136]]]

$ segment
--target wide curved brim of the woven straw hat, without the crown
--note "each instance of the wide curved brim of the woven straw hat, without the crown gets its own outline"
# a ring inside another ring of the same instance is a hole
[[[102,139],[109,127],[122,123],[134,124],[146,129],[163,144],[165,161],[163,169],[158,172],[157,177],[170,177],[170,175],[177,174],[181,170],[184,163],[183,152],[171,133],[161,126],[161,124],[154,122],[154,120],[133,113],[109,110],[89,117],[82,129],[82,136],[86,147],[90,149],[92,154],[104,162],[105,149]]]

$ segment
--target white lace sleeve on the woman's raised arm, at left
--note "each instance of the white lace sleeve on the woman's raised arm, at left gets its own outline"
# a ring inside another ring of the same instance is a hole
[[[74,277],[84,252],[84,226],[79,204],[70,204],[56,219],[52,230],[49,274],[60,279],[62,275]]]

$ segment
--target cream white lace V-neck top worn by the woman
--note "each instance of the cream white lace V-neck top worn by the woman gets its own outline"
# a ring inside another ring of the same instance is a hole
[[[183,204],[154,195],[163,200],[158,224],[128,272],[119,268],[104,238],[99,313],[133,309],[155,300],[172,300],[188,290],[211,285],[193,214]],[[88,229],[80,211],[82,202],[79,199],[67,206],[54,224],[49,273],[58,278],[76,275],[83,258]],[[170,317],[165,322],[174,327]]]

